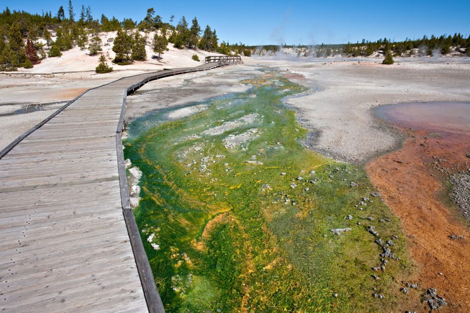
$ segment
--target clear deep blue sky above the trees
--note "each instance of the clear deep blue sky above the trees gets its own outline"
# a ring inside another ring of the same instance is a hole
[[[364,2],[364,1],[363,1]],[[93,17],[101,13],[122,20],[141,21],[153,7],[167,22],[175,15],[190,22],[197,17],[217,30],[220,40],[247,45],[321,44],[377,40],[387,37],[403,40],[426,35],[460,32],[470,34],[470,0],[365,1],[335,0],[239,0],[239,1],[80,1],[72,0],[78,15],[81,5],[92,7]],[[418,3],[422,2],[422,3]],[[2,0],[3,8],[56,14],[60,5],[66,12],[68,0]],[[1,10],[3,10],[1,8]],[[67,15],[67,13],[66,13]]]

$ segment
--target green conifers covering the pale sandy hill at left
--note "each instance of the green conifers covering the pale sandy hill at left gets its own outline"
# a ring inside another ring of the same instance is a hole
[[[116,17],[108,18],[104,14],[101,14],[98,20],[94,19],[90,6],[82,5],[76,16],[71,0],[67,11],[60,6],[56,13],[43,11],[41,14],[31,14],[25,11],[10,11],[6,7],[0,13],[0,70],[30,68],[42,59],[60,56],[61,51],[74,46],[88,48],[90,55],[96,55],[102,50],[98,33],[110,31],[119,32],[119,46],[116,47],[118,52],[115,51],[116,43],[113,47],[113,51],[119,54],[118,60],[115,60],[117,63],[127,64],[132,60],[143,60],[146,58],[146,38],[142,39],[140,35],[131,33],[130,30],[134,28],[146,34],[158,31],[163,35],[159,38],[156,34],[154,37],[154,51],[159,57],[166,50],[167,42],[181,49],[198,47],[223,54],[250,54],[250,50],[241,43],[230,45],[223,41],[219,44],[215,29],[207,25],[202,32],[197,18],[192,20],[191,26],[184,16],[174,26],[174,18],[173,15],[169,22],[163,22],[162,17],[157,15],[153,8],[149,8],[140,22],[131,18],[118,21]],[[54,41],[50,31],[55,32]],[[39,38],[44,39],[44,42],[38,41]]]

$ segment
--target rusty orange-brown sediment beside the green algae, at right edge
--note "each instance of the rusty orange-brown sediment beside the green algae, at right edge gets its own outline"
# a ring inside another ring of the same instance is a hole
[[[470,312],[470,231],[447,201],[446,181],[448,175],[470,168],[470,131],[449,126],[453,121],[445,119],[440,128],[446,131],[439,134],[431,132],[440,126],[433,122],[431,127],[431,119],[413,123],[422,130],[397,126],[408,135],[402,148],[377,157],[366,169],[407,235],[419,266],[417,281],[411,283],[418,283],[423,292],[436,288],[448,302],[440,312],[465,313]],[[450,235],[464,239],[451,240]],[[429,311],[425,304],[422,308]]]

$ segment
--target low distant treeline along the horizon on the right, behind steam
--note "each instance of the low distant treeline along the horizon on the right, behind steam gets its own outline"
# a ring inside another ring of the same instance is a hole
[[[454,49],[459,50],[460,54],[467,54],[470,56],[470,36],[465,38],[460,33],[455,33],[453,36],[442,35],[436,37],[431,35],[431,37],[423,36],[420,39],[408,39],[404,41],[391,41],[390,39],[384,38],[379,39],[375,42],[370,42],[362,40],[362,42],[357,42],[352,44],[348,42],[347,44],[334,44],[334,45],[281,45],[282,48],[293,48],[298,51],[300,56],[308,56],[312,53],[312,50],[315,51],[316,56],[334,56],[341,54],[343,56],[371,56],[376,51],[391,51],[394,56],[411,56],[415,53],[418,53],[422,56],[432,56],[433,54],[448,54]],[[260,52],[262,50],[276,53],[281,48],[280,45],[262,45],[262,46],[248,46],[247,48],[253,52]],[[465,51],[465,52],[464,52]]]

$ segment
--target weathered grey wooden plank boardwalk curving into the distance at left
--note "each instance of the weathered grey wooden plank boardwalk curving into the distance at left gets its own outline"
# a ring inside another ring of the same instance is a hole
[[[129,206],[125,99],[218,66],[90,89],[0,152],[0,312],[164,312]]]

